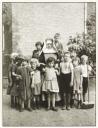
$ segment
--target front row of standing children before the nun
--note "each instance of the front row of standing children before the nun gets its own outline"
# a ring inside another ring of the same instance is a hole
[[[61,100],[62,110],[70,110],[77,100],[77,107],[85,102],[88,88],[88,75],[91,67],[87,64],[88,57],[70,58],[70,52],[62,54],[60,62],[49,57],[45,63],[34,55],[26,58],[14,55],[9,68],[9,86],[11,87],[11,107],[22,112],[39,109],[43,98],[47,110],[57,111],[56,97]]]

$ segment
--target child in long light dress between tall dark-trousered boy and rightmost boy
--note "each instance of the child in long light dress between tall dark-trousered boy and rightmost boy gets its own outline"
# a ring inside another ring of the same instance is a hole
[[[78,101],[78,108],[82,102],[82,72],[79,65],[80,59],[78,57],[73,59],[73,99]]]

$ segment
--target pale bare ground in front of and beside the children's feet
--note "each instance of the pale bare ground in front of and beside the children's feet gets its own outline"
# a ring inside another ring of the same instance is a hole
[[[90,81],[90,99],[95,102],[95,80]],[[3,90],[3,126],[95,126],[95,105],[92,109],[72,108],[58,112],[33,110],[20,113],[10,108],[10,97]]]

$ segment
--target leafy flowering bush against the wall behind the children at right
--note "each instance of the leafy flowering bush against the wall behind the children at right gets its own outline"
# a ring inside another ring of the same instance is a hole
[[[96,17],[91,15],[87,19],[87,34],[76,34],[73,38],[70,36],[68,42],[69,51],[75,50],[78,56],[86,54],[93,62],[96,61]]]

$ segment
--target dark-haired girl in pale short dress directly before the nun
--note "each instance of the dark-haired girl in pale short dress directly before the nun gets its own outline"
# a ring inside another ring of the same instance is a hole
[[[56,93],[59,92],[57,76],[59,72],[54,68],[55,59],[53,57],[49,57],[47,59],[47,67],[44,69],[45,72],[45,80],[43,83],[42,91],[47,93],[47,100],[48,100],[48,108],[50,110],[50,104],[52,100],[52,110],[57,111],[55,107],[55,96]]]

